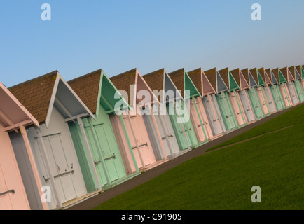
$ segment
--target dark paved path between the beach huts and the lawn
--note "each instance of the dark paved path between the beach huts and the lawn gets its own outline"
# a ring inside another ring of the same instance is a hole
[[[185,153],[183,155],[180,155],[179,157],[175,158],[174,160],[170,160],[168,162],[163,163],[162,165],[159,165],[158,167],[155,167],[153,169],[148,170],[144,174],[140,174],[139,176],[135,176],[134,178],[130,179],[129,181],[125,181],[124,183],[121,183],[120,185],[111,188],[109,190],[104,191],[104,193],[101,193],[99,195],[96,195],[94,197],[89,198],[88,200],[85,200],[84,202],[81,202],[79,204],[74,205],[74,207],[70,207],[67,210],[90,210],[93,209],[99,204],[102,204],[103,202],[106,202],[107,200],[111,199],[112,197],[115,197],[116,195],[120,195],[121,193],[124,193],[127,190],[130,190],[136,186],[139,186],[142,183],[146,183],[147,181],[153,179],[154,177],[163,174],[169,169],[172,169],[174,167],[177,167],[177,165],[186,162],[187,160],[190,160],[191,158],[195,158],[199,155],[202,155],[206,153],[208,148],[211,148],[213,146],[216,146],[224,141],[227,141],[239,134],[242,134],[243,132],[246,132],[247,130],[250,130],[253,127],[256,127],[258,125],[261,125],[265,123],[266,121],[270,120],[271,118],[275,118],[276,116],[279,116],[280,114],[289,111],[296,106],[293,106],[289,109],[285,109],[284,111],[279,111],[277,113],[273,113],[270,116],[267,116],[261,120],[256,121],[255,123],[251,123],[249,125],[246,125],[238,130],[235,130],[234,132],[230,132],[228,134],[223,135],[223,137],[219,137],[218,139],[214,139],[213,141],[209,141],[207,144],[204,144],[198,148],[193,149],[192,151],[189,151],[188,153]]]

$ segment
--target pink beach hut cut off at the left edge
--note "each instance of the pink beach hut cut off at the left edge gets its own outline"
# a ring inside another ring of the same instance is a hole
[[[32,114],[0,83],[0,210],[48,208],[40,200],[42,184],[25,130],[25,127],[31,125],[39,127]],[[12,142],[9,133],[15,133],[20,137],[19,146]],[[23,154],[18,151],[22,147],[25,148]],[[27,172],[32,174],[27,176],[29,179],[22,176],[24,167],[18,160],[28,160]],[[29,192],[25,188],[28,184],[35,188],[36,196],[39,198],[37,204],[29,198]]]

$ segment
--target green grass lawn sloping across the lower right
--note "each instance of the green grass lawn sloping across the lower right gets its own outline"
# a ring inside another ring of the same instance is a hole
[[[231,140],[295,126],[188,160],[95,209],[304,209],[303,114],[298,106]]]

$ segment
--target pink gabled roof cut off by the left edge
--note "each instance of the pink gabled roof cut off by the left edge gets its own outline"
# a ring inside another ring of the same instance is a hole
[[[36,125],[38,121],[32,116],[25,106],[0,82],[0,127],[12,127],[13,125]],[[12,128],[12,129],[15,129]]]

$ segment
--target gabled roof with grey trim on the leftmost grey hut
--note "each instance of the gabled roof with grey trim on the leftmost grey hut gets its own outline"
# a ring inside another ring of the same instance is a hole
[[[48,126],[55,106],[64,118],[83,113],[95,118],[58,71],[28,80],[8,88],[14,96],[32,113],[39,124]]]

